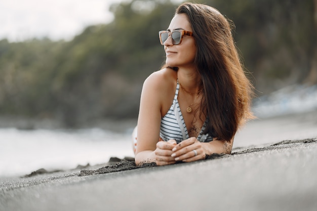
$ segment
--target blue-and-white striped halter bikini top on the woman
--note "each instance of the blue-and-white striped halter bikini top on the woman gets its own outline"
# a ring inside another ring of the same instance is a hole
[[[177,100],[178,92],[179,83],[177,80],[173,104],[171,105],[167,114],[161,119],[160,138],[163,139],[163,141],[174,139],[177,143],[180,143],[181,141],[189,138],[186,124]],[[208,134],[203,134],[206,124],[207,119],[204,122],[199,136],[197,137],[200,142],[211,142],[213,140],[213,137],[209,136]]]

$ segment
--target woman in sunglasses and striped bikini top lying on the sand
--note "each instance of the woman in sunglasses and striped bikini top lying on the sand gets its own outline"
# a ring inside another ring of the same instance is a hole
[[[184,3],[159,35],[166,65],[143,85],[136,164],[230,154],[237,129],[252,118],[252,86],[230,24],[212,7]]]

